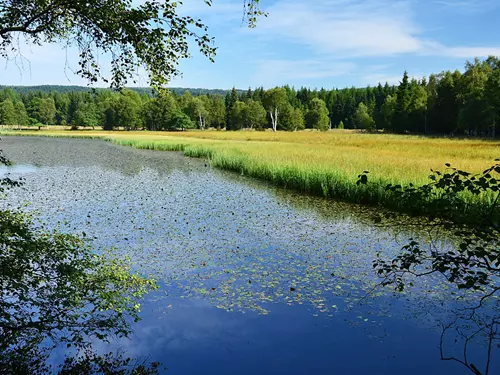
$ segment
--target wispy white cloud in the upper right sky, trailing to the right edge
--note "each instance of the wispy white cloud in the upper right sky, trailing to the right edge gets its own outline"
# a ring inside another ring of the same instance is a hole
[[[401,54],[457,58],[500,54],[500,47],[445,46],[423,37],[408,1],[278,0],[266,9],[257,32],[263,40],[286,40],[313,53],[346,59]]]

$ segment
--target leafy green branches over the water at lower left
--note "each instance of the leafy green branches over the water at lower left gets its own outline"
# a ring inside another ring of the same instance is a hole
[[[8,164],[1,154],[0,161]],[[19,185],[1,180],[2,190]],[[127,336],[141,297],[156,287],[128,260],[93,252],[20,211],[0,210],[0,244],[0,369],[38,366],[33,353],[57,345]]]

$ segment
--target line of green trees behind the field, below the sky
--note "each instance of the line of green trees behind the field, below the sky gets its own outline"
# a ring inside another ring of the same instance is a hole
[[[219,92],[4,88],[0,123],[156,131],[345,128],[494,137],[500,59],[474,59],[466,62],[463,73],[444,71],[428,79],[410,79],[405,72],[399,85],[332,90],[286,85]]]

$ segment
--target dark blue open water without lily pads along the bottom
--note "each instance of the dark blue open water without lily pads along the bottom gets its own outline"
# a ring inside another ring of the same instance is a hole
[[[169,302],[162,314],[146,305],[131,340],[116,344],[174,374],[468,373],[439,360],[438,330],[429,334],[412,321],[386,318],[383,335],[373,336],[370,325],[346,324],[345,316],[325,322],[306,306],[280,305],[261,316],[228,314],[204,300]]]

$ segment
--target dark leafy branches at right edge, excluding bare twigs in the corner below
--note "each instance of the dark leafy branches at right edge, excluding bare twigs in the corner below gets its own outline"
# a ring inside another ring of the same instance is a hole
[[[398,290],[405,288],[407,275],[441,273],[459,289],[491,296],[500,290],[495,279],[500,274],[500,164],[478,174],[447,167],[446,172],[433,171],[428,184],[388,184],[385,189],[406,213],[425,215],[424,225],[453,230],[457,242],[451,248],[428,250],[411,240],[396,258],[378,258],[373,266],[383,277],[383,285],[394,284]],[[359,175],[358,184],[368,184],[367,173]],[[491,196],[491,203],[467,204],[460,198],[464,192]],[[394,218],[395,214],[387,212],[383,217]]]

